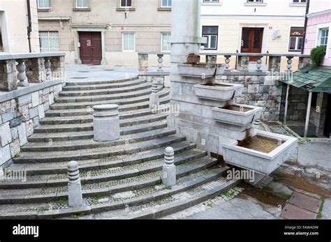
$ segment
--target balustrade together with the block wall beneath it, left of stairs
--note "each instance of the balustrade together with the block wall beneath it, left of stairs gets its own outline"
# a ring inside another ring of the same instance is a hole
[[[20,156],[62,91],[64,71],[64,53],[0,54],[0,169]]]

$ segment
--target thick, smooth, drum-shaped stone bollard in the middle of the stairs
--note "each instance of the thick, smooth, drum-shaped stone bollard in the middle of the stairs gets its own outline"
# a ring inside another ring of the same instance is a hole
[[[96,105],[93,107],[94,140],[98,142],[119,139],[119,105]]]

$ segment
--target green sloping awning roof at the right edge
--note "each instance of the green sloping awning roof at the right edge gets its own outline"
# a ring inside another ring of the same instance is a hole
[[[319,66],[314,70],[307,66],[279,81],[311,92],[331,92],[331,66]]]

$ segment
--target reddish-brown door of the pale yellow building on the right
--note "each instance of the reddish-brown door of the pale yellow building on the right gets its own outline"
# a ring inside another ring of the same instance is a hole
[[[242,28],[242,53],[260,53],[262,50],[263,28]],[[249,61],[256,61],[251,56]]]

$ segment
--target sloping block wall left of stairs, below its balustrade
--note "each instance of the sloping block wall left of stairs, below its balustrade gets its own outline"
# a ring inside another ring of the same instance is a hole
[[[27,137],[62,91],[62,82],[52,80],[0,93],[0,166],[8,167],[20,155],[20,147],[27,144]]]

